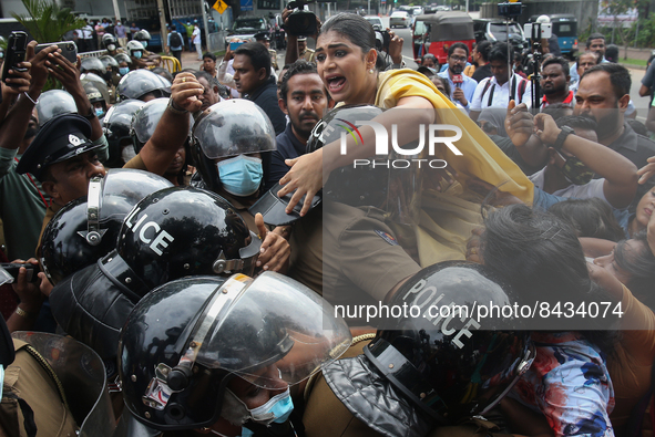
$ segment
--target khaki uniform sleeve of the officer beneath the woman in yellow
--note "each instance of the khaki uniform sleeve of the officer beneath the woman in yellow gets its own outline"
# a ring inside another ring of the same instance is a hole
[[[369,208],[355,218],[339,236],[342,273],[373,299],[387,293],[421,267],[398,243],[393,231],[381,219],[381,211]]]

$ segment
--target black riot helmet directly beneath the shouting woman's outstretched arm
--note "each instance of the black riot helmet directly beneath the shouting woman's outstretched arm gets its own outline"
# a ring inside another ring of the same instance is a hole
[[[314,126],[307,141],[307,153],[339,141],[344,135],[359,139],[360,121],[368,122],[382,114],[383,110],[372,105],[341,106],[325,114]],[[351,133],[351,134],[350,134]],[[380,166],[347,165],[335,169],[323,187],[323,197],[350,206],[379,206],[387,198],[389,169]]]

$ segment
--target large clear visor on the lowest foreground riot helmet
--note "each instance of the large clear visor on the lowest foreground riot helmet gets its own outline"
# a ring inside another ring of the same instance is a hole
[[[273,272],[255,280],[243,274],[227,280],[205,306],[191,339],[181,363],[193,360],[270,389],[306,379],[351,342],[331,305]]]

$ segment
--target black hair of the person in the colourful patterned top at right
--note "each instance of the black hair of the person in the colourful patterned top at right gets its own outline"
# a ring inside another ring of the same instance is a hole
[[[584,252],[574,229],[547,211],[526,205],[511,205],[487,215],[481,236],[484,266],[501,274],[519,293],[522,303],[581,303],[610,300],[592,281]],[[551,319],[549,331],[580,331],[604,352],[613,351],[614,332],[610,319],[587,320],[581,331],[577,319]]]

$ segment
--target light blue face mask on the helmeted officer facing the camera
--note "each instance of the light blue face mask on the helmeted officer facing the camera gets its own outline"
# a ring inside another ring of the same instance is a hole
[[[259,189],[264,176],[262,159],[239,155],[222,160],[216,167],[223,188],[231,195],[246,197]]]

